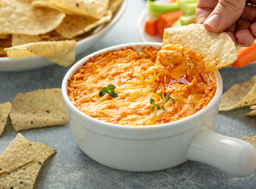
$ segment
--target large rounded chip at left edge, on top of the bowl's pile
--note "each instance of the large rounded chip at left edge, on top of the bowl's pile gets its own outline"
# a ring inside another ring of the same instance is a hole
[[[65,14],[54,9],[33,8],[29,1],[3,0],[0,33],[38,35],[54,30]]]

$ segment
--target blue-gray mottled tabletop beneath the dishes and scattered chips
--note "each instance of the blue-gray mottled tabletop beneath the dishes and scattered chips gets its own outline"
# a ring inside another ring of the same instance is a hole
[[[94,47],[76,60],[108,46],[140,42],[136,29],[137,17],[145,8],[145,1],[130,0],[120,21]],[[61,87],[69,68],[58,65],[30,71],[0,72],[0,103],[8,102],[17,92]],[[224,91],[235,83],[256,75],[256,64],[243,69],[222,68]],[[227,136],[242,138],[256,135],[256,117],[246,117],[250,111],[243,107],[221,112],[216,131]],[[75,144],[69,125],[21,131],[24,137],[40,141],[57,153],[43,165],[35,188],[256,188],[256,172],[247,178],[234,178],[214,167],[187,161],[182,165],[155,172],[126,172],[114,170],[90,159]],[[15,138],[17,132],[10,120],[0,137],[0,152]]]

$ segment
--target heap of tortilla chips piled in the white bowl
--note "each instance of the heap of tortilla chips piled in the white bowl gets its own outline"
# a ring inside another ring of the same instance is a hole
[[[40,56],[69,66],[75,60],[76,41],[109,22],[122,2],[1,0],[0,57]]]

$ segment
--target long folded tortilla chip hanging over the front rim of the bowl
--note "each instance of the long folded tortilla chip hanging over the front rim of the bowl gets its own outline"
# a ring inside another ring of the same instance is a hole
[[[28,43],[4,49],[10,58],[37,55],[62,66],[74,62],[75,50],[76,40]]]

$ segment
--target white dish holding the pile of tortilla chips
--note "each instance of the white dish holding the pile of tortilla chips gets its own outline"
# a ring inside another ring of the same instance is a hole
[[[127,1],[124,0],[120,8],[115,12],[113,19],[107,23],[100,25],[94,31],[91,31],[90,35],[76,43],[76,55],[79,55],[83,51],[94,45],[100,38],[107,33],[107,31],[116,23],[116,21],[122,16],[127,6]],[[36,68],[42,68],[44,66],[52,65],[55,63],[38,56],[18,57],[18,58],[0,58],[0,71],[22,71]]]

